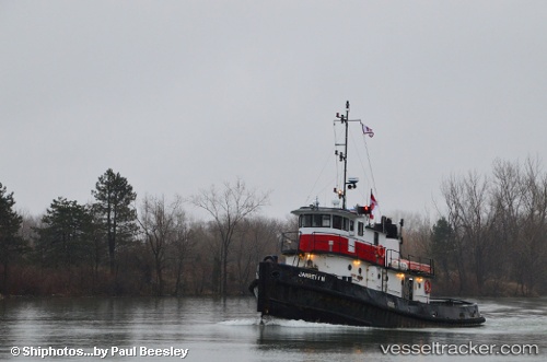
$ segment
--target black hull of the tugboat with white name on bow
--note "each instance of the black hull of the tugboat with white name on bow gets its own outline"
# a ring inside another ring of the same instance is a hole
[[[470,327],[478,306],[457,300],[408,301],[313,269],[259,264],[257,311],[286,319],[371,327]]]

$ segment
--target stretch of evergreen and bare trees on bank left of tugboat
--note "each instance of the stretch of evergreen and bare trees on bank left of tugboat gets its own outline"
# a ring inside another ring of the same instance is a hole
[[[0,295],[183,295],[247,291],[277,252],[282,222],[257,211],[268,194],[237,179],[189,198],[212,221],[193,221],[176,196],[137,194],[113,170],[94,202],[54,199],[44,215],[15,211],[0,184]]]

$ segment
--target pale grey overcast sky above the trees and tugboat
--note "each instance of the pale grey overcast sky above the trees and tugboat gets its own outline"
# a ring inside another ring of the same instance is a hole
[[[241,177],[269,217],[325,205],[346,100],[382,210],[423,212],[496,157],[545,168],[547,2],[0,1],[0,183],[34,214],[109,167],[140,197]]]

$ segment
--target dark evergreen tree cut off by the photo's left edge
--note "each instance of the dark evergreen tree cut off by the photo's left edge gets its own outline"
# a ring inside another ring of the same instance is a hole
[[[8,293],[10,261],[24,250],[23,240],[18,236],[22,218],[14,210],[13,192],[8,194],[0,183],[0,262],[3,266],[3,282],[0,292]]]

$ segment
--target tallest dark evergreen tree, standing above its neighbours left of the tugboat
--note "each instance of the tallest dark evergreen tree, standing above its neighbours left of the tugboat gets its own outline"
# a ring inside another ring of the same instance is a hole
[[[137,231],[137,212],[132,207],[137,194],[127,178],[108,168],[98,177],[92,195],[96,200],[95,214],[101,218],[106,235],[110,273],[114,275],[119,244],[130,240]]]

